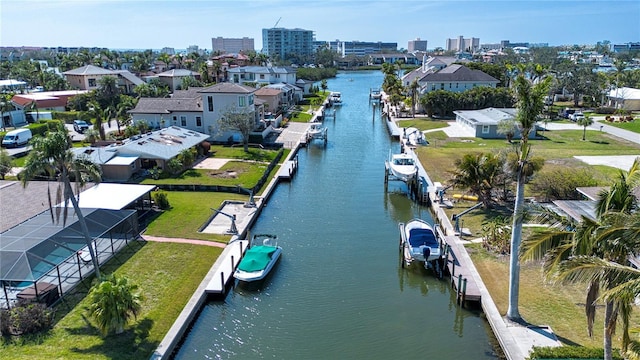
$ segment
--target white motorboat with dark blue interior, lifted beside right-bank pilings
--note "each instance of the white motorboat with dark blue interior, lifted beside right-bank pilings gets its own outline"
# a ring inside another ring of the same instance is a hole
[[[433,227],[426,221],[413,219],[406,224],[400,223],[399,227],[404,259],[407,264],[418,261],[428,268],[442,257],[442,243]]]

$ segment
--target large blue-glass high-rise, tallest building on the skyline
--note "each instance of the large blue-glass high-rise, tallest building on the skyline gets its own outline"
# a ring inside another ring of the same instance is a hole
[[[288,54],[312,55],[314,35],[311,30],[262,29],[262,52],[286,59]]]

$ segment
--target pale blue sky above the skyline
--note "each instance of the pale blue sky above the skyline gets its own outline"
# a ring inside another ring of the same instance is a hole
[[[420,38],[481,44],[640,42],[640,1],[570,0],[0,0],[0,46],[211,50],[211,38],[254,38],[274,26],[316,40],[397,42]]]

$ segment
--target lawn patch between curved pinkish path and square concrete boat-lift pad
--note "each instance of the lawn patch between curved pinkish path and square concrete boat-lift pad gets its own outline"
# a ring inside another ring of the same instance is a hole
[[[224,200],[249,200],[247,195],[218,192],[168,191],[167,195],[171,209],[154,219],[145,234],[227,243],[229,235],[205,234],[198,229],[213,214],[211,208],[218,208]]]

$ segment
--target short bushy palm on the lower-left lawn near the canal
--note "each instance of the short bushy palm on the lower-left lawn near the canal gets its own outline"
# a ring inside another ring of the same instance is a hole
[[[112,274],[96,284],[89,293],[89,313],[103,334],[124,331],[124,325],[142,310],[142,296],[138,286],[125,276]]]

